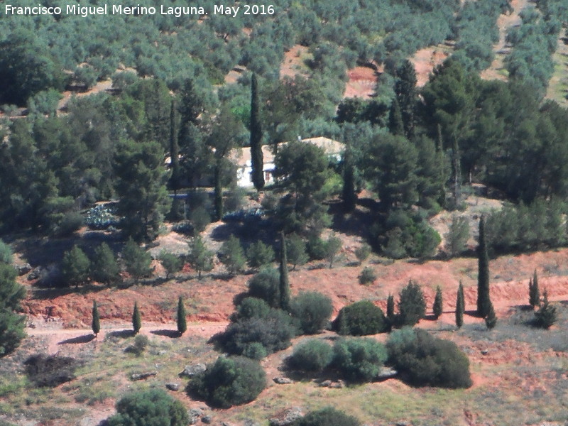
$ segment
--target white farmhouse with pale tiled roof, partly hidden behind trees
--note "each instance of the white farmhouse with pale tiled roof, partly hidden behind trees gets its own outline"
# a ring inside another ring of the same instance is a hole
[[[313,143],[315,146],[323,148],[329,157],[334,157],[336,160],[341,160],[344,151],[344,144],[334,141],[323,136],[317,138],[302,139],[302,142]],[[279,146],[285,145],[287,142],[280,143]],[[265,185],[271,185],[274,182],[274,155],[271,146],[264,145],[262,147],[263,155],[263,172]],[[249,188],[253,187],[251,180],[252,165],[251,165],[251,148],[238,148],[231,151],[231,159],[236,163],[236,180],[239,187]]]

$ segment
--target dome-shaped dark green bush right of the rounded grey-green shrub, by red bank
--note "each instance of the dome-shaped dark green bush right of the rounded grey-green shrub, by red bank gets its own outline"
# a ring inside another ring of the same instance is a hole
[[[333,323],[333,329],[339,334],[364,336],[386,332],[388,324],[380,307],[368,300],[361,300],[342,307]]]

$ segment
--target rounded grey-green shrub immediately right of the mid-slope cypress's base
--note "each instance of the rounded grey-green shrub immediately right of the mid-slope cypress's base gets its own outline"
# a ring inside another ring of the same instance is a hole
[[[315,291],[300,293],[292,299],[290,312],[300,321],[304,334],[316,334],[324,329],[332,316],[332,300]]]

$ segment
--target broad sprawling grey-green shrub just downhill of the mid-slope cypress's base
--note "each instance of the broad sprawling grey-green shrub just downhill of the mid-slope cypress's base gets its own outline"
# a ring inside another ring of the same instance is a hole
[[[286,349],[296,327],[288,312],[272,309],[266,317],[239,319],[213,338],[229,354],[244,355],[251,343],[260,343],[266,354]]]

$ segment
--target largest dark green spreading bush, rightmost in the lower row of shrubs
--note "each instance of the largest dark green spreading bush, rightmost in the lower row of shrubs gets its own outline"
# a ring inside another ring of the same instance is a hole
[[[388,359],[403,378],[417,386],[469,388],[469,359],[454,342],[422,329],[395,330],[387,342]]]

